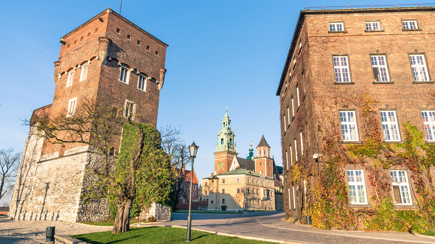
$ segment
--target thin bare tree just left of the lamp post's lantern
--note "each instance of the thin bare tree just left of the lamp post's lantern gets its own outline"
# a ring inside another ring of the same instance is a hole
[[[161,131],[164,134],[169,134],[170,131],[176,130],[172,126],[162,128]],[[180,131],[180,129],[178,129]],[[162,142],[164,151],[171,156],[171,164],[174,168],[174,202],[172,205],[172,211],[177,211],[177,204],[180,197],[187,199],[186,190],[189,188],[188,182],[186,182],[187,175],[184,173],[184,168],[191,162],[188,146],[184,140],[180,138],[180,133],[173,135],[169,140]]]

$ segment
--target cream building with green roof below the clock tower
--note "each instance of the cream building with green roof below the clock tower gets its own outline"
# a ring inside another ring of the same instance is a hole
[[[275,210],[274,178],[236,168],[202,179],[202,198],[208,210]]]

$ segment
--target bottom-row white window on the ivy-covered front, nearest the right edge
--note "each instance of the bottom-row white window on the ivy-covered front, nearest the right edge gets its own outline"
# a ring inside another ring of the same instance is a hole
[[[412,198],[409,194],[409,182],[406,171],[391,170],[393,193],[397,205],[412,205]]]

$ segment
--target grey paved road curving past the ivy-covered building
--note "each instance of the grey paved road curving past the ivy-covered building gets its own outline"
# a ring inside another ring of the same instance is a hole
[[[434,239],[405,232],[325,231],[301,224],[281,221],[283,212],[258,211],[243,214],[192,214],[192,228],[205,231],[242,234],[309,244],[418,244],[435,243]],[[187,214],[172,214],[161,225],[186,226]]]

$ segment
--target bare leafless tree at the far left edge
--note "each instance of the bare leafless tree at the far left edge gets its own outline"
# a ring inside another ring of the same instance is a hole
[[[0,150],[0,200],[6,195],[6,193],[12,192],[15,179],[17,178],[21,152],[14,152],[14,148],[3,148]]]

